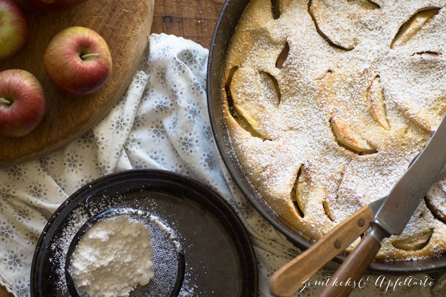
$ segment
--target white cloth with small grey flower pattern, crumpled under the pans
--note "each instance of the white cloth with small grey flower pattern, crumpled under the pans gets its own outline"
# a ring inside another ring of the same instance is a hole
[[[152,34],[133,81],[104,119],[44,158],[0,168],[0,283],[8,291],[30,296],[36,243],[53,212],[72,193],[112,172],[158,168],[207,184],[235,210],[256,251],[259,295],[270,296],[271,275],[300,251],[254,210],[220,159],[207,111],[207,59],[208,49],[192,41]],[[316,296],[336,267],[329,263],[311,278],[319,283],[309,282],[296,296]],[[408,286],[401,284],[408,275],[365,276],[370,281],[351,296],[435,296],[444,279],[429,275],[435,286]]]

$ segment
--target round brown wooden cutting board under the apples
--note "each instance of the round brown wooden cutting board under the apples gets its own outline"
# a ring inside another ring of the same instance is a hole
[[[26,46],[0,61],[0,71],[24,69],[44,87],[48,110],[39,126],[19,138],[0,137],[0,166],[42,157],[87,132],[121,97],[146,49],[153,19],[154,0],[89,0],[60,12],[41,12],[25,0],[16,0],[30,23]],[[113,61],[111,78],[96,93],[67,97],[45,72],[43,56],[53,37],[70,26],[88,27],[107,42]]]

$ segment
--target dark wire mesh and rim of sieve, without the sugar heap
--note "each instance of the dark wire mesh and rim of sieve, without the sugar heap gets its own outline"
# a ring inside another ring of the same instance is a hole
[[[101,198],[108,204],[107,210],[92,215],[90,203],[94,198]],[[177,240],[173,230],[167,226],[159,217],[147,211],[135,208],[112,208],[103,195],[92,195],[84,202],[84,207],[90,218],[79,229],[74,236],[66,255],[65,278],[71,296],[88,297],[75,284],[71,277],[71,261],[73,253],[82,236],[98,221],[111,219],[121,215],[127,215],[133,219],[143,222],[152,232],[152,247],[154,249],[152,262],[154,264],[154,278],[145,286],[137,286],[130,293],[130,297],[156,296],[174,297],[181,290],[184,279],[185,261],[184,252]],[[118,272],[117,272],[118,273]]]

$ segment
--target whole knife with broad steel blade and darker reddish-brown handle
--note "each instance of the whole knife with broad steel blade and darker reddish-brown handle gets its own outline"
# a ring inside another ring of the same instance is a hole
[[[371,231],[348,255],[332,277],[321,297],[348,296],[381,247],[381,241],[400,234],[446,163],[446,117],[428,144],[396,182],[383,205],[370,222]],[[344,285],[339,285],[339,284]]]

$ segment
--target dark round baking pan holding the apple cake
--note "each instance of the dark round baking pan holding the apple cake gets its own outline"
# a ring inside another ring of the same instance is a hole
[[[212,131],[214,133],[217,147],[222,155],[223,162],[243,195],[246,196],[256,210],[265,217],[268,222],[283,233],[292,243],[300,248],[306,249],[312,246],[314,242],[281,221],[277,213],[266,204],[261,195],[244,175],[238,160],[233,153],[227,126],[224,120],[222,97],[225,84],[223,82],[224,65],[226,63],[227,51],[232,35],[234,34],[238,21],[249,2],[250,0],[226,0],[212,37],[209,50],[206,86]],[[340,254],[336,256],[334,260],[341,263],[345,258],[346,255]],[[420,259],[417,261],[374,261],[369,266],[369,269],[372,271],[389,273],[428,272],[445,268],[446,255],[429,259]]]

